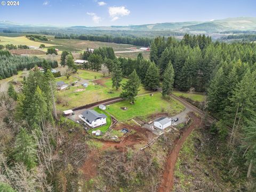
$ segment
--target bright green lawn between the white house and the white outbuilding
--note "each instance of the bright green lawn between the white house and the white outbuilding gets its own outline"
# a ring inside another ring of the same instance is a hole
[[[127,107],[127,110],[121,109]],[[146,117],[151,114],[167,112],[170,115],[178,114],[185,107],[176,100],[167,101],[162,98],[161,93],[141,95],[136,98],[135,104],[131,105],[129,101],[121,101],[107,106],[107,111],[116,117],[119,121],[126,121],[134,117]]]

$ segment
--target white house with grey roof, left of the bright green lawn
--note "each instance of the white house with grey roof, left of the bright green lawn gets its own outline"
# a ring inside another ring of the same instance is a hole
[[[86,109],[79,118],[92,128],[105,125],[107,123],[107,116],[105,114],[99,114],[97,111]]]

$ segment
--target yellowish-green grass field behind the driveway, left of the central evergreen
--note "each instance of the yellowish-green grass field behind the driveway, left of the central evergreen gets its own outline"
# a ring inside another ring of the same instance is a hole
[[[65,81],[66,77],[62,78],[56,78],[56,81],[67,82]],[[75,79],[73,79],[72,82],[74,82],[74,80]],[[65,90],[58,91],[58,98],[61,100],[61,103],[57,105],[58,110],[71,109],[89,103],[118,97],[122,92],[122,87],[118,90],[112,88],[111,78],[100,79],[100,81],[101,84],[96,84],[95,82],[90,81],[88,87],[84,87],[81,84],[75,84],[75,86],[70,86]],[[123,79],[122,82],[124,83],[125,81],[127,81],[127,79]],[[83,89],[83,91],[77,92],[78,89]],[[146,92],[146,90],[141,86],[139,93],[143,92]],[[67,105],[63,106],[63,103],[67,103]]]

